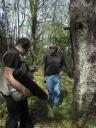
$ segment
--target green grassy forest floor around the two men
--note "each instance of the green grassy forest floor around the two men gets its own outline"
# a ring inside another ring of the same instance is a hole
[[[37,83],[47,92],[42,70],[34,74]],[[72,89],[73,80],[66,74],[62,76],[61,100],[58,108],[51,108],[47,102],[36,97],[28,99],[30,115],[34,121],[35,128],[72,128]],[[0,128],[5,128],[7,110],[5,103],[0,100]],[[86,128],[96,128],[96,121],[90,121]]]

